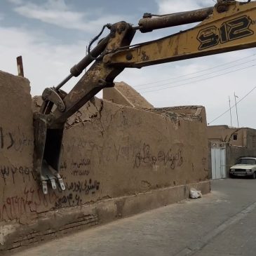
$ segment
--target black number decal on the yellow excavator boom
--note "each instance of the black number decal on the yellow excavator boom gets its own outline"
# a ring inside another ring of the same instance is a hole
[[[254,32],[249,29],[252,20],[243,15],[234,20],[224,22],[220,28],[215,26],[207,27],[198,33],[197,39],[201,43],[198,50],[216,46],[218,43],[227,43],[245,36],[250,36]]]

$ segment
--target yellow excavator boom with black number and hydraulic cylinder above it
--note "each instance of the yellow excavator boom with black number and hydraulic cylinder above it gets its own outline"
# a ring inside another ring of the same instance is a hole
[[[180,18],[180,23],[178,22]],[[144,18],[144,31],[186,22],[203,21],[192,29],[163,39],[116,49],[103,61],[118,67],[146,67],[164,62],[185,60],[256,46],[256,4],[220,1],[214,8],[177,13],[159,18]],[[186,20],[187,19],[187,20]]]

